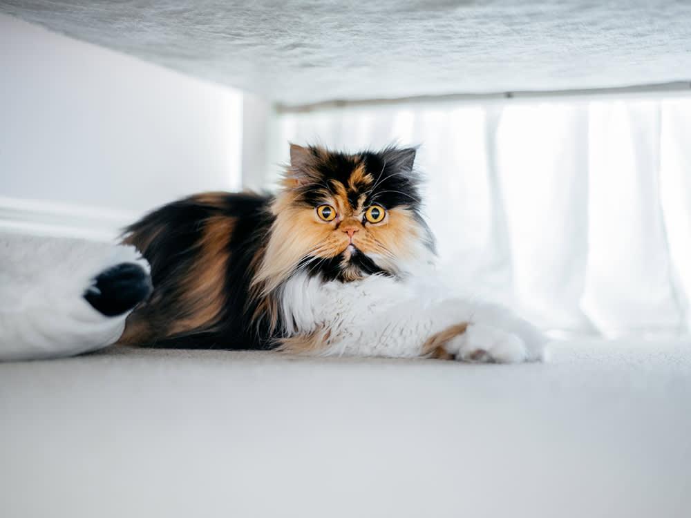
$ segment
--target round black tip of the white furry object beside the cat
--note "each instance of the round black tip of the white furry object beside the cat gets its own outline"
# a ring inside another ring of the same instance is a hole
[[[151,291],[151,276],[144,268],[121,262],[98,274],[84,291],[84,298],[105,316],[117,316],[149,298]]]

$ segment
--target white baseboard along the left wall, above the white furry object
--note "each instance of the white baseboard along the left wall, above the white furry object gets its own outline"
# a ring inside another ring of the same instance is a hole
[[[111,241],[135,211],[0,196],[0,231]]]

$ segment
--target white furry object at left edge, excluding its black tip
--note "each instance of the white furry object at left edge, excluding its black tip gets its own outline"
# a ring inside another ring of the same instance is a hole
[[[114,343],[129,312],[103,316],[83,295],[97,274],[120,262],[149,267],[133,247],[0,233],[0,361]]]

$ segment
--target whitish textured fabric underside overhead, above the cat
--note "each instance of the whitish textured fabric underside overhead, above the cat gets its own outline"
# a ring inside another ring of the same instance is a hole
[[[665,0],[4,0],[0,11],[283,104],[691,79]]]

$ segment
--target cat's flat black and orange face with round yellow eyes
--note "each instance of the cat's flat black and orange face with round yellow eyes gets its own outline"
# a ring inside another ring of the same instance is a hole
[[[430,258],[414,160],[412,148],[345,154],[292,145],[263,269],[350,281],[399,276]]]

